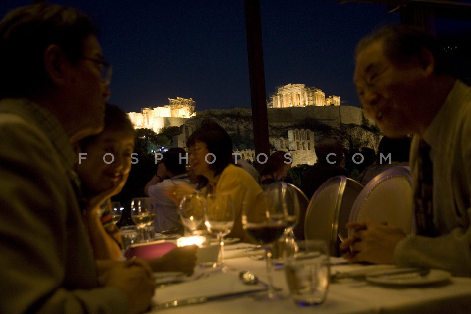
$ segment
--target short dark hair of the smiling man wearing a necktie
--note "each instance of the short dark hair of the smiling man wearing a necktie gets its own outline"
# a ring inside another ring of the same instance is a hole
[[[386,56],[397,62],[421,58],[422,50],[428,50],[435,59],[435,73],[452,74],[449,60],[440,42],[430,33],[408,25],[383,26],[364,37],[356,46],[355,56],[374,42],[384,40]]]

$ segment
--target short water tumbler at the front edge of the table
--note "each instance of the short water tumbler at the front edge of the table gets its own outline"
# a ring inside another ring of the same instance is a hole
[[[329,251],[325,241],[296,242],[285,265],[291,297],[300,306],[324,302],[329,288]]]

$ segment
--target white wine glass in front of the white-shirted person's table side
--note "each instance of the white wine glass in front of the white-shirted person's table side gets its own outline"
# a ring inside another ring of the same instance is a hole
[[[156,213],[154,211],[154,204],[150,197],[137,197],[131,201],[131,219],[136,224],[139,232],[140,242],[149,241],[152,235],[147,235],[148,230],[152,225],[154,219],[156,219]]]

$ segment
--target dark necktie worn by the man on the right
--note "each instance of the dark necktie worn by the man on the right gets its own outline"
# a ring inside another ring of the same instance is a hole
[[[430,159],[430,145],[423,139],[419,143],[418,151],[418,182],[414,193],[416,233],[423,236],[437,236],[433,224],[432,191],[433,166]]]

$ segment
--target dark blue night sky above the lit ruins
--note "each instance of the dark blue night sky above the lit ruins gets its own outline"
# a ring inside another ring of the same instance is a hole
[[[2,1],[0,14],[31,2]],[[113,64],[110,102],[124,110],[167,105],[177,96],[193,98],[197,111],[250,107],[244,0],[50,2],[77,7],[94,20]],[[301,83],[359,106],[352,84],[355,44],[378,26],[398,23],[399,14],[333,0],[260,5],[267,98],[279,85]]]

